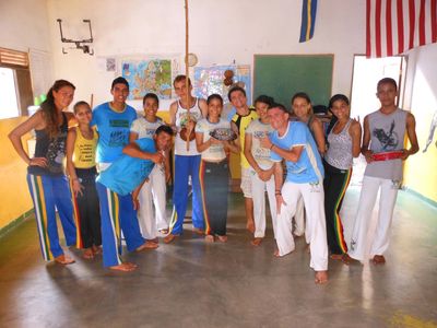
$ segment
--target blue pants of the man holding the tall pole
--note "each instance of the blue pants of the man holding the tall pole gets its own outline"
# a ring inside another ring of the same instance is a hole
[[[170,233],[180,235],[188,202],[188,177],[192,184],[192,225],[204,230],[202,194],[200,190],[200,155],[175,155],[175,184]]]

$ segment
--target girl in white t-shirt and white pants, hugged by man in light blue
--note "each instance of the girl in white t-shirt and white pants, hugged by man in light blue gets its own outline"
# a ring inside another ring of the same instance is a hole
[[[270,118],[267,115],[269,106],[273,103],[273,98],[260,95],[255,101],[255,108],[259,119],[250,122],[246,129],[245,138],[245,156],[249,162],[250,183],[253,199],[253,216],[255,216],[255,234],[253,246],[259,246],[265,233],[265,200],[264,195],[268,192],[270,214],[273,222],[273,233],[276,232],[276,199],[274,196],[274,176],[273,162],[270,160],[270,150],[260,144],[260,139],[273,131],[270,126]]]

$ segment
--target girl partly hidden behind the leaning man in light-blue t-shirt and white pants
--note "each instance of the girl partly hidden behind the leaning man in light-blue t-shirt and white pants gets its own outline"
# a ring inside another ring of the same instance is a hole
[[[296,93],[292,98],[292,108],[293,114],[296,116],[296,118],[307,125],[312,138],[316,141],[317,149],[319,150],[320,155],[323,155],[327,148],[324,142],[323,126],[320,119],[318,119],[312,114],[311,99],[309,98],[309,96],[305,92]],[[294,234],[296,236],[302,236],[305,232],[305,208],[304,200],[302,198],[297,202],[297,209],[294,220]],[[306,239],[308,242],[309,236],[306,236]]]

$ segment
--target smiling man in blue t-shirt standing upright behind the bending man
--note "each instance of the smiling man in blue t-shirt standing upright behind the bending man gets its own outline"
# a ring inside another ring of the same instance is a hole
[[[98,105],[93,110],[91,126],[98,131],[96,162],[98,171],[103,172],[122,155],[123,148],[129,143],[129,131],[132,121],[137,118],[133,107],[126,104],[129,95],[129,83],[119,77],[113,81],[110,93],[113,101]],[[131,200],[120,200],[120,225],[129,250],[156,248],[156,244],[144,243],[141,236],[137,216],[129,215]],[[102,211],[102,209],[101,209]],[[104,241],[103,241],[104,242]],[[104,251],[105,251],[105,245]]]

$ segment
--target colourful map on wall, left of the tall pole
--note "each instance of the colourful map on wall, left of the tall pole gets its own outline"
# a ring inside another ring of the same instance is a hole
[[[176,59],[120,59],[120,74],[128,80],[128,99],[140,101],[153,92],[161,99],[172,98],[172,81],[178,69]]]

